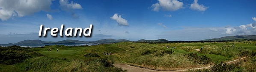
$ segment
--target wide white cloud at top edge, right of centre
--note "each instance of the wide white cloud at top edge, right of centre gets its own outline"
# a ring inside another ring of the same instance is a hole
[[[178,0],[158,0],[158,3],[152,4],[153,11],[159,11],[160,8],[166,11],[176,11],[183,8],[183,2]]]

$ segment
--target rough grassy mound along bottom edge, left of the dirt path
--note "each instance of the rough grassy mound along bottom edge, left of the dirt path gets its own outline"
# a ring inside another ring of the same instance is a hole
[[[35,72],[124,72],[109,61],[94,58],[85,61],[65,61],[57,58],[36,57],[25,61],[25,70]],[[105,66],[109,64],[109,66]]]

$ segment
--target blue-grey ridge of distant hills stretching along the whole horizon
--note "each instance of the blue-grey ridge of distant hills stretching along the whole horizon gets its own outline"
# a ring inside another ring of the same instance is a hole
[[[256,35],[236,35],[236,36],[224,36],[220,38],[213,38],[213,39],[205,39],[199,41],[228,41],[228,40],[239,40],[239,39],[254,39],[256,40]],[[46,44],[46,43],[116,43],[116,42],[133,42],[127,39],[100,39],[96,41],[79,41],[79,40],[72,40],[66,39],[58,42],[45,42],[39,39],[35,40],[24,40],[17,42],[16,44]],[[157,40],[145,40],[140,39],[135,42],[170,42],[166,39],[157,39]]]

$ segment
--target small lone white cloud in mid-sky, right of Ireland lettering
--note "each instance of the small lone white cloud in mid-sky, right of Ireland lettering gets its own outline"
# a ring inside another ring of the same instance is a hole
[[[118,23],[118,26],[129,26],[127,20],[123,19],[121,15],[114,14],[110,19],[115,20]]]

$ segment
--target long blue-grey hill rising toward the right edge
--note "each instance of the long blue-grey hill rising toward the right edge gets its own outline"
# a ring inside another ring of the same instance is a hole
[[[248,36],[225,36],[221,38],[205,39],[203,41],[225,41],[225,40],[238,40],[238,39],[256,39],[256,35]]]

